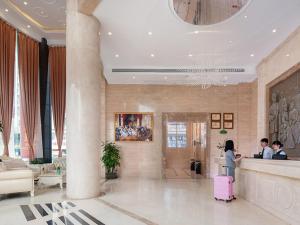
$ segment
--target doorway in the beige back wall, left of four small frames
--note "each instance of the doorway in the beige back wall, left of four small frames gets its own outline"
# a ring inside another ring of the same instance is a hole
[[[163,113],[163,169],[167,179],[209,173],[208,113]]]

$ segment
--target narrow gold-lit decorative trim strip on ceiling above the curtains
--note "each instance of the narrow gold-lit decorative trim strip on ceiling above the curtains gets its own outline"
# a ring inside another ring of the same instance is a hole
[[[17,13],[19,13],[21,16],[25,17],[27,20],[29,20],[31,23],[33,23],[34,25],[36,25],[38,28],[40,28],[41,30],[45,31],[45,32],[51,32],[51,33],[65,33],[66,29],[65,28],[61,28],[61,27],[48,27],[45,26],[43,24],[41,24],[40,22],[38,22],[37,20],[35,20],[34,18],[32,18],[30,15],[28,15],[26,12],[24,12],[22,9],[20,9],[17,5],[15,5],[14,3],[12,3],[10,0],[4,0],[6,1],[6,3],[13,8]]]

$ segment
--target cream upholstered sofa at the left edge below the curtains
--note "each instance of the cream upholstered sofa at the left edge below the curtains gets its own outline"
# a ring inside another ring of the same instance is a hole
[[[0,194],[30,192],[34,196],[33,171],[24,167],[11,167],[0,162]]]

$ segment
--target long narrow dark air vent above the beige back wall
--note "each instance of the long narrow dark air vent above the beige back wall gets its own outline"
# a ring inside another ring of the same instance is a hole
[[[244,68],[112,69],[113,73],[244,73]]]

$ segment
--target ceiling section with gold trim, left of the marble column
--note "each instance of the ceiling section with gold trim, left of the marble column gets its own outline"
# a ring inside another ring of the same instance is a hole
[[[45,37],[49,44],[65,43],[65,10],[66,0],[0,1],[0,17],[37,40]]]

